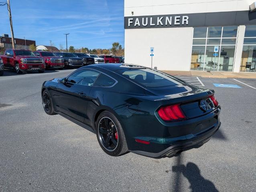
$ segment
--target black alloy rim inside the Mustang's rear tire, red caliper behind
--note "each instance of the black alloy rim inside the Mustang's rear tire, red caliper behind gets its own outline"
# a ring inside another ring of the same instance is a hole
[[[108,117],[103,117],[100,120],[99,138],[106,150],[114,151],[116,149],[118,145],[118,132],[114,122]]]

